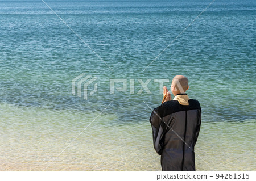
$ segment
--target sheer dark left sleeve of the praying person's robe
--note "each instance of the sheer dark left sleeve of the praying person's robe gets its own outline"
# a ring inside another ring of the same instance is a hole
[[[150,123],[153,131],[153,144],[156,153],[158,153],[159,155],[162,154],[164,141],[164,126],[162,121],[163,112],[164,107],[161,105],[154,109],[150,116]]]

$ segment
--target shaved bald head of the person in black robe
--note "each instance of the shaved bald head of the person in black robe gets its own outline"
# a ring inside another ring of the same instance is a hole
[[[172,79],[172,94],[184,94],[188,90],[188,78],[183,75],[176,75]]]

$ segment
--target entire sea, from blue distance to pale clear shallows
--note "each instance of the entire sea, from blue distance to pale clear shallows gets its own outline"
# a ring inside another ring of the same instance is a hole
[[[179,37],[211,1],[45,2],[79,36],[43,1],[0,1],[0,170],[160,170],[154,81],[177,74],[201,103],[197,170],[255,170],[255,1],[216,0]]]

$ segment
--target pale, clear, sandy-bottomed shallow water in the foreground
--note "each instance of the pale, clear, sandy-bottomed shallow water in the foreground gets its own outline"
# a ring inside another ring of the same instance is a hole
[[[147,120],[117,124],[110,107],[55,159],[100,112],[0,110],[0,170],[160,170]],[[213,170],[253,170],[254,137],[255,120],[203,122],[195,151]],[[210,170],[204,161],[197,170]]]

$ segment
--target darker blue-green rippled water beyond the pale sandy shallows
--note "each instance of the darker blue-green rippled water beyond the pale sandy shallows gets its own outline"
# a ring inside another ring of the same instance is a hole
[[[154,79],[182,74],[203,121],[255,120],[255,1],[216,0],[150,66],[211,1],[45,2],[113,71],[43,1],[0,1],[1,103],[94,112],[113,100],[107,112],[117,123],[144,121],[151,110],[143,100],[162,101]],[[97,77],[88,100],[71,94],[81,73]],[[109,79],[120,78],[127,91],[110,94]],[[151,79],[152,94],[137,94],[138,79]]]

